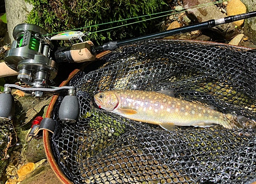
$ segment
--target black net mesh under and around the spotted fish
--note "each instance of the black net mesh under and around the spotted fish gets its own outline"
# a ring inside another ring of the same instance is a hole
[[[155,40],[126,45],[77,74],[79,121],[52,138],[74,183],[245,183],[256,177],[255,130],[159,126],[99,109],[112,89],[175,89],[175,96],[256,119],[256,53],[228,45]],[[54,119],[66,94],[56,104]]]

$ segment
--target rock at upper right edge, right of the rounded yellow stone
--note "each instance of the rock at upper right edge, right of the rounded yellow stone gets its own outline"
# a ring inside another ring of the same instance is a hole
[[[255,1],[241,0],[246,6],[248,12],[256,11]],[[244,34],[248,36],[249,40],[256,44],[256,18],[246,18],[244,20]]]

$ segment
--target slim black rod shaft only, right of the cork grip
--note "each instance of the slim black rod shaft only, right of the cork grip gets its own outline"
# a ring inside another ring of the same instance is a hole
[[[187,32],[191,32],[191,31],[207,29],[207,28],[213,28],[218,25],[227,24],[227,23],[230,23],[233,21],[242,20],[245,18],[251,18],[251,17],[255,17],[255,16],[256,16],[256,11],[253,11],[253,12],[248,12],[248,13],[243,13],[243,14],[238,14],[238,15],[233,15],[233,16],[227,16],[227,17],[219,18],[219,19],[211,19],[208,21],[199,22],[197,24],[184,26],[181,28],[171,29],[171,30],[160,32],[160,33],[148,34],[148,35],[139,36],[139,37],[131,38],[131,39],[126,39],[126,40],[122,40],[122,41],[110,41],[110,42],[104,43],[103,45],[91,47],[91,52],[93,54],[98,54],[103,51],[108,51],[108,50],[113,51],[123,45],[131,44],[131,43],[134,43],[137,41],[158,39],[158,38],[163,38],[163,37],[172,36],[172,35],[176,35],[176,34],[187,33]]]

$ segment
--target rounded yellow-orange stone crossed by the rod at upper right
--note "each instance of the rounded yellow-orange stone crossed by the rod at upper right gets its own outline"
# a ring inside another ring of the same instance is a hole
[[[231,0],[228,2],[227,16],[238,15],[242,13],[246,13],[246,7],[240,0]],[[243,23],[244,19],[233,22],[233,24],[238,27],[242,26]]]

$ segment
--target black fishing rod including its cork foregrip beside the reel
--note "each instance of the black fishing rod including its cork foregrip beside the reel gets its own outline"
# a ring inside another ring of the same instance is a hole
[[[159,38],[164,38],[164,37],[172,36],[176,34],[187,33],[191,31],[202,30],[207,28],[213,28],[218,25],[227,24],[233,21],[238,21],[245,18],[255,17],[255,16],[256,16],[256,11],[253,11],[253,12],[248,12],[248,13],[243,13],[238,15],[227,16],[219,19],[211,19],[208,21],[199,22],[197,24],[184,26],[176,29],[171,29],[171,30],[167,30],[159,33],[148,34],[148,35],[139,36],[136,38],[126,39],[121,41],[110,41],[110,42],[104,43],[103,45],[98,45],[98,46],[94,46],[91,43],[91,41],[77,43],[72,45],[71,47],[61,48],[58,51],[56,51],[55,60],[58,63],[65,62],[65,61],[68,61],[68,62],[90,61],[95,59],[95,57],[93,57],[93,55],[95,54],[99,54],[103,51],[113,51],[126,44],[133,44],[137,41],[159,39]]]

